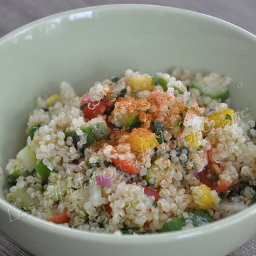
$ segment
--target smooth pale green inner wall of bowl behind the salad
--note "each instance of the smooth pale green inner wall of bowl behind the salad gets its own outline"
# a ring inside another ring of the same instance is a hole
[[[175,66],[216,71],[234,79],[232,106],[255,116],[255,60],[250,33],[161,6],[84,8],[33,22],[0,40],[0,166],[24,145],[36,98],[58,92],[63,80],[82,94],[127,68],[149,74]]]

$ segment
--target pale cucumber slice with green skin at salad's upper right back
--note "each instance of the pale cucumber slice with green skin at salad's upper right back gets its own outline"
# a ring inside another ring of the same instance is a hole
[[[204,81],[193,81],[191,86],[199,90],[202,95],[210,97],[211,99],[221,99],[221,101],[225,101],[229,97],[229,91],[227,87],[221,87],[218,85],[207,86]]]

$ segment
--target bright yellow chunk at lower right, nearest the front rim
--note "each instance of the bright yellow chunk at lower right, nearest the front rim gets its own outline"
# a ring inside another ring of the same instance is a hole
[[[192,194],[199,209],[212,209],[212,205],[215,204],[216,200],[211,194],[211,188],[204,184],[197,186]]]

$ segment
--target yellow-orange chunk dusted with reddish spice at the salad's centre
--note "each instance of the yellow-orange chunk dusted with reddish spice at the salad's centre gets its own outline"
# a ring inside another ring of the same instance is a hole
[[[159,144],[156,134],[144,128],[133,129],[128,141],[132,150],[139,153],[147,152],[148,148],[154,148]]]

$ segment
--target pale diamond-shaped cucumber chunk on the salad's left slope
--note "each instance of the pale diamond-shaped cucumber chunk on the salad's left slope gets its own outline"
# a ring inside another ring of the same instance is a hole
[[[24,164],[26,170],[31,173],[36,166],[36,154],[35,151],[29,146],[26,145],[20,152],[17,154],[17,158]]]

